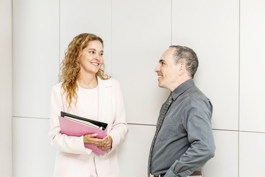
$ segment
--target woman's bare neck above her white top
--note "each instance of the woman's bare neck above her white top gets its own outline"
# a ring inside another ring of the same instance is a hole
[[[97,86],[96,75],[80,75],[78,84],[84,89],[94,89]]]

